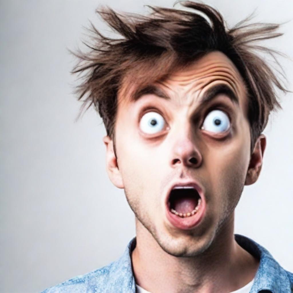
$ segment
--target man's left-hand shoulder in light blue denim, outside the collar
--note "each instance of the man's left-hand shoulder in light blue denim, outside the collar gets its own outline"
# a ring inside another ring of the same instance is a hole
[[[85,293],[85,292],[105,292],[106,284],[109,284],[110,274],[115,266],[115,262],[105,265],[97,270],[93,270],[84,275],[79,275],[53,287],[45,289],[41,293]],[[103,291],[100,288],[104,288]]]

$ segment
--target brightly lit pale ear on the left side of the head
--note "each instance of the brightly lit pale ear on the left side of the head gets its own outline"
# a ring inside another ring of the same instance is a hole
[[[114,153],[113,140],[107,135],[103,137],[106,146],[106,170],[111,182],[118,188],[124,188],[122,176]]]

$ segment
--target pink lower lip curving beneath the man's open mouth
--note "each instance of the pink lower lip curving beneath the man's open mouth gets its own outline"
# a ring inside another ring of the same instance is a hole
[[[205,200],[202,197],[202,202],[200,204],[200,208],[197,213],[190,217],[181,218],[173,214],[168,205],[166,205],[166,217],[168,221],[176,228],[182,230],[190,230],[197,226],[205,214]]]

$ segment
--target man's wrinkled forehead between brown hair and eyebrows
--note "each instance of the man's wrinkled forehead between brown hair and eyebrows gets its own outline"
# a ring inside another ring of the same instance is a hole
[[[153,94],[176,103],[191,105],[195,97],[222,88],[237,103],[246,108],[246,88],[243,79],[233,62],[222,52],[214,51],[196,60],[188,66],[174,71],[168,78],[156,81],[152,86],[128,85],[127,95],[122,95],[121,103],[135,103],[142,97]],[[217,92],[217,91],[214,91]]]

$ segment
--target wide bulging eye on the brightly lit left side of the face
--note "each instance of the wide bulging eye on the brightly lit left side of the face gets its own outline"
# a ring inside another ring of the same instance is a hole
[[[139,122],[140,129],[147,134],[161,131],[164,128],[164,125],[164,118],[157,112],[147,112],[142,116],[142,119]]]

